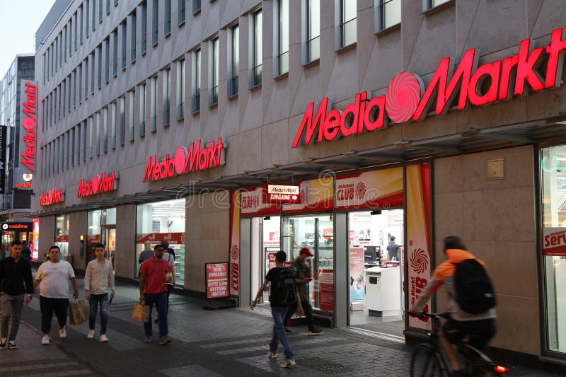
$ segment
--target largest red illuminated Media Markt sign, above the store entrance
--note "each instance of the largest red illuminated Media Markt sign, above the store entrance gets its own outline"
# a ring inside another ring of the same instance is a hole
[[[479,67],[476,49],[466,51],[455,70],[452,59],[445,57],[426,89],[419,76],[401,72],[393,77],[385,95],[368,98],[367,92],[358,93],[354,103],[342,113],[336,109],[327,111],[328,98],[323,98],[316,112],[314,103],[310,103],[292,146],[374,131],[387,127],[388,120],[423,120],[433,105],[434,113],[440,115],[454,101],[462,110],[468,105],[482,106],[525,95],[529,87],[531,91],[558,88],[562,84],[566,50],[562,33],[562,28],[553,30],[550,44],[545,47],[531,48],[531,40],[523,40],[517,54]]]

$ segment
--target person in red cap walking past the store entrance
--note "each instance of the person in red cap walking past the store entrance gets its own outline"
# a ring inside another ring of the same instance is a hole
[[[313,317],[313,307],[311,306],[311,300],[308,298],[308,283],[312,280],[311,266],[307,263],[309,257],[312,257],[313,253],[308,248],[302,248],[299,251],[299,257],[293,262],[289,267],[295,277],[295,284],[299,288],[299,294],[301,298],[301,306],[303,307],[304,313],[306,315],[306,323],[308,325],[308,335],[320,335],[320,330],[314,325]],[[292,306],[287,311],[284,323],[287,325],[289,320],[296,311],[297,306]],[[291,332],[289,328],[285,327],[286,332]]]

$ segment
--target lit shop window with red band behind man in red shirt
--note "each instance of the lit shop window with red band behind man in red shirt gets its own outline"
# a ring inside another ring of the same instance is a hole
[[[185,200],[167,200],[137,206],[137,235],[134,264],[139,276],[139,254],[144,244],[154,245],[166,240],[175,251],[175,284],[185,285]]]

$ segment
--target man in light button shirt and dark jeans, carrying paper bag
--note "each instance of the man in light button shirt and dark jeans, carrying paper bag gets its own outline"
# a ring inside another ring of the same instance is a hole
[[[110,289],[110,297],[114,298],[114,272],[112,270],[112,262],[104,257],[105,248],[102,243],[94,246],[94,254],[96,260],[91,260],[86,266],[84,273],[84,290],[86,299],[90,306],[90,314],[88,315],[88,339],[94,337],[94,327],[96,325],[96,312],[100,305],[100,338],[99,342],[108,342],[106,337],[106,327],[108,325],[108,289]]]

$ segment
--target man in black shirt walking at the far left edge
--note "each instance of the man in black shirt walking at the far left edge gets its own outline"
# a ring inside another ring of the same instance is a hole
[[[20,327],[23,303],[28,305],[33,294],[31,266],[21,258],[22,243],[11,243],[11,256],[0,261],[0,306],[2,310],[0,348],[16,349],[16,335]],[[27,293],[27,294],[26,294]],[[25,298],[24,298],[25,295]],[[8,323],[12,325],[8,335]]]

